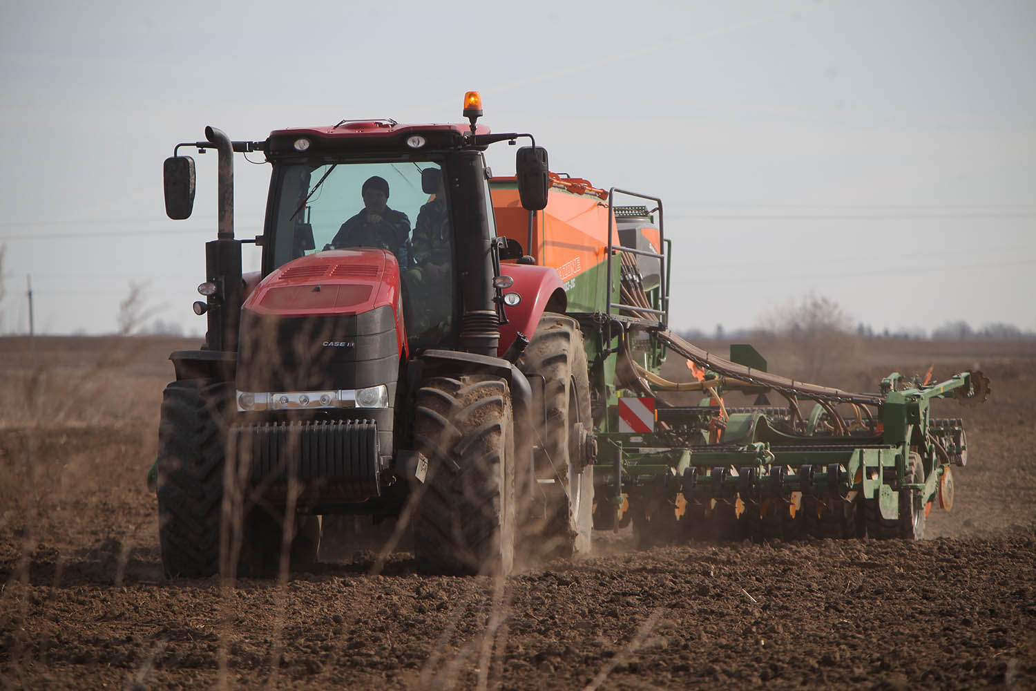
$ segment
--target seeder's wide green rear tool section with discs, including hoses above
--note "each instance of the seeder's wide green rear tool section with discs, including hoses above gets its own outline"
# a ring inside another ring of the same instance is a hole
[[[599,435],[599,527],[632,522],[645,544],[920,538],[932,503],[952,507],[951,467],[968,462],[968,438],[960,419],[932,418],[930,403],[985,400],[981,372],[905,387],[906,379],[893,374],[883,380],[884,393],[854,394],[770,374],[754,350],[755,366],[748,366],[665,330],[653,337],[701,367],[702,378],[678,384],[633,366],[638,375],[653,387],[706,398],[680,407],[640,397],[654,421]],[[722,396],[730,391],[776,392],[787,406],[726,407]],[[609,411],[609,429],[623,427],[624,403]]]

